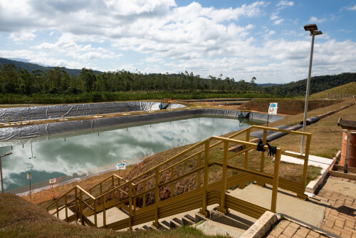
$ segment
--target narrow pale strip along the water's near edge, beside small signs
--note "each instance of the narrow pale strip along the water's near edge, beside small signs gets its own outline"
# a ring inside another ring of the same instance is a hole
[[[135,165],[139,162],[141,162],[143,159],[143,157],[137,157],[137,158],[133,158],[130,159],[128,161],[125,162],[126,165],[126,170],[132,170],[132,165]],[[120,162],[120,161],[117,161]],[[52,187],[58,187],[58,186],[62,186],[62,185],[66,185],[69,184],[71,182],[75,182],[75,181],[80,181],[80,180],[86,180],[90,177],[95,177],[97,175],[101,175],[110,171],[115,171],[116,170],[116,165],[117,163],[112,163],[110,165],[104,165],[101,167],[95,167],[93,169],[90,170],[85,170],[85,171],[78,171],[73,173],[72,175],[66,175],[66,176],[61,176],[61,177],[56,177],[51,179],[52,181],[54,179],[55,182],[51,183],[50,180],[45,180],[42,182],[36,182],[31,184],[31,194],[34,194],[36,192],[40,192],[42,190],[48,190],[51,189]],[[130,167],[131,166],[131,167]],[[126,171],[123,170],[122,172],[119,171],[120,175],[125,175]],[[24,187],[18,187],[14,190],[7,190],[4,191],[5,193],[13,193],[15,195],[19,195],[19,196],[26,196],[30,194],[30,185],[24,186]]]

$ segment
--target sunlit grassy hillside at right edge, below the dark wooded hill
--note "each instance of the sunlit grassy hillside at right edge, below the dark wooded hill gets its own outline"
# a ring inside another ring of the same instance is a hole
[[[340,98],[342,95],[355,95],[356,97],[356,82],[347,83],[342,86],[330,88],[319,93],[310,95],[310,98]]]

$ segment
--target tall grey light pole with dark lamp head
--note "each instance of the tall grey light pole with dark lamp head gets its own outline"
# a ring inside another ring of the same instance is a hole
[[[310,24],[304,26],[305,31],[310,31],[310,36],[312,36],[312,43],[310,48],[310,61],[309,61],[309,73],[308,73],[308,81],[307,81],[307,91],[305,94],[305,107],[304,107],[304,119],[303,119],[303,133],[305,132],[305,124],[307,120],[308,113],[308,101],[309,101],[309,90],[310,90],[310,75],[311,68],[313,63],[313,50],[314,50],[314,38],[317,35],[323,34],[321,31],[318,31],[318,26],[316,24]],[[302,135],[302,145],[300,146],[300,155],[303,155],[304,152],[304,135]]]

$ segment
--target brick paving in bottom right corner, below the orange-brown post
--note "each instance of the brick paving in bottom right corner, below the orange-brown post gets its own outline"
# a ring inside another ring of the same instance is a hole
[[[333,177],[333,180],[356,183],[341,177]],[[318,192],[317,197],[330,203],[320,228],[340,237],[356,238],[356,198],[324,188]]]

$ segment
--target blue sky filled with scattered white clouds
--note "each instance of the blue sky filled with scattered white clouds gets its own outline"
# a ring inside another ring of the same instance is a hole
[[[0,57],[256,83],[356,72],[356,0],[1,0]]]

